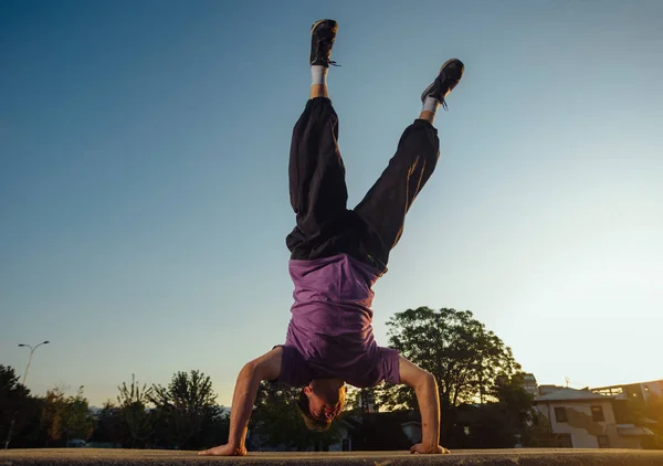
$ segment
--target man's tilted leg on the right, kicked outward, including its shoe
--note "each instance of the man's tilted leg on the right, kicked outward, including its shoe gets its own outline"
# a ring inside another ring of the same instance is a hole
[[[449,95],[463,75],[459,60],[450,60],[440,68],[435,81],[423,92],[423,107],[401,136],[396,155],[355,212],[368,224],[365,251],[386,269],[389,252],[401,237],[406,214],[438,163],[440,139],[432,126],[440,105],[446,108]]]

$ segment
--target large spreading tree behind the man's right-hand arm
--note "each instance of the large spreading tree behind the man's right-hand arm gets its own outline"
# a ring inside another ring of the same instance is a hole
[[[469,310],[420,307],[397,313],[387,325],[390,346],[435,375],[443,436],[455,406],[494,400],[497,375],[520,370],[511,348]],[[387,386],[378,393],[387,407],[418,409],[415,394],[407,386]]]

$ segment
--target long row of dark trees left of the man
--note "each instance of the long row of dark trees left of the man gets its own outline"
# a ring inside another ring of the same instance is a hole
[[[131,382],[118,388],[92,414],[83,388],[69,395],[62,386],[31,396],[11,367],[0,364],[0,436],[11,447],[61,447],[81,438],[123,447],[201,448],[223,444],[230,431],[229,412],[214,403],[209,377],[199,371],[176,372],[167,386]],[[150,409],[154,403],[154,409]]]

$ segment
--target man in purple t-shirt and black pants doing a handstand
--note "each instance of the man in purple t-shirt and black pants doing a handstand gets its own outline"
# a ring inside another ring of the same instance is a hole
[[[440,155],[432,126],[440,105],[460,82],[459,60],[442,65],[425,88],[418,119],[403,133],[389,166],[359,204],[347,209],[345,167],[338,150],[338,117],[327,91],[337,23],[311,31],[311,99],[295,125],[290,155],[290,197],[296,226],[287,235],[294,305],[285,343],[246,363],[236,381],[228,443],[203,455],[245,455],[244,439],[262,380],[303,386],[298,406],[309,428],[325,430],[343,410],[345,384],[382,381],[414,389],[422,442],[412,453],[449,453],[439,445],[440,400],[435,378],[379,347],[372,333],[372,285],[387,272],[406,213]]]

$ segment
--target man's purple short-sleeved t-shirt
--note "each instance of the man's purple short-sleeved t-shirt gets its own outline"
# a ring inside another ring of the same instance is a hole
[[[399,383],[398,351],[376,343],[370,309],[381,273],[346,254],[290,261],[295,284],[277,381],[338,378],[355,386]]]

